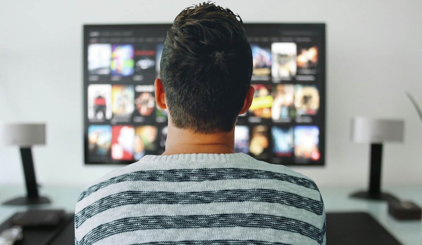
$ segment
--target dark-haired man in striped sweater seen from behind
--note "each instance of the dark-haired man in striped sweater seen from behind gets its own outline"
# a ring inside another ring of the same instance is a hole
[[[254,94],[251,47],[238,15],[184,9],[168,30],[157,105],[168,110],[161,156],[114,170],[76,205],[78,245],[320,245],[315,183],[234,153],[234,126]]]

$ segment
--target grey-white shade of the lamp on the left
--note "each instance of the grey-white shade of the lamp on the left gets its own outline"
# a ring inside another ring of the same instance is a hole
[[[0,125],[0,145],[28,147],[46,144],[46,124]]]

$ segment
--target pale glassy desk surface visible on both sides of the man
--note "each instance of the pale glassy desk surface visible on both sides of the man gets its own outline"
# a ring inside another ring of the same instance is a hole
[[[68,212],[75,210],[75,203],[82,191],[82,187],[46,187],[41,188],[41,194],[49,197],[51,205],[41,205],[39,208],[62,208]],[[364,201],[351,199],[349,194],[355,188],[320,188],[327,212],[352,212],[363,211],[370,213],[385,229],[396,237],[403,245],[422,244],[421,221],[397,221],[387,212],[386,202]],[[422,206],[422,186],[391,187],[385,188],[396,197],[411,200]],[[17,196],[24,195],[22,186],[0,186],[0,203]],[[37,207],[38,208],[38,207]],[[26,207],[1,206],[0,222],[16,212],[25,210]]]

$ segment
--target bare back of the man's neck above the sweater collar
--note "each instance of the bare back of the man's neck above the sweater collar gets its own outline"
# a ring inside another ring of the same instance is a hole
[[[234,130],[202,134],[169,125],[165,152],[162,155],[188,153],[234,153]]]

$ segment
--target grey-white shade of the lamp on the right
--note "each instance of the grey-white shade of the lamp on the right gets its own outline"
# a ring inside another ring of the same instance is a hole
[[[351,121],[350,138],[355,143],[403,142],[404,121],[355,117]]]

